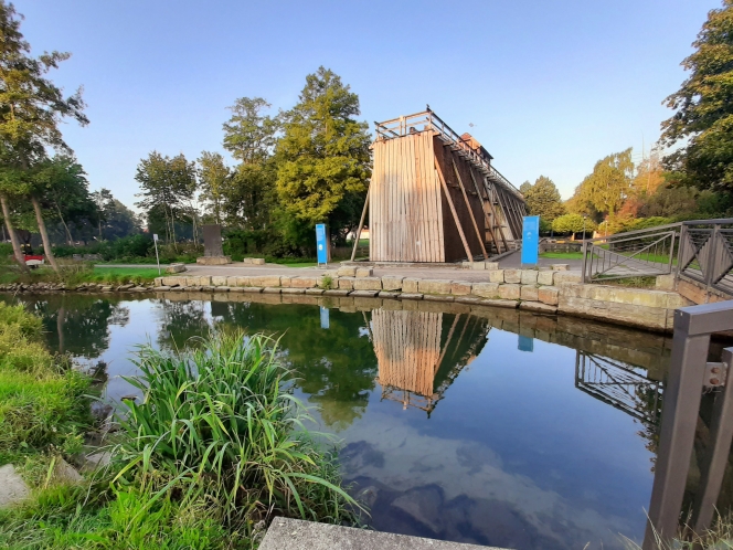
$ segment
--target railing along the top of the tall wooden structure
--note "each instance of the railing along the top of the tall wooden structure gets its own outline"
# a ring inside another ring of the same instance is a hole
[[[417,126],[423,125],[418,129]],[[469,144],[467,144],[450,126],[445,124],[443,119],[433,113],[429,107],[422,113],[414,115],[401,116],[392,120],[384,120],[383,123],[374,123],[376,134],[383,139],[393,139],[396,137],[406,136],[414,131],[434,130],[437,133],[438,138],[446,145],[455,148],[455,150],[471,161],[489,181],[496,183],[508,191],[514,193],[523,200],[522,193],[511,182],[504,178],[499,170],[493,168],[490,159],[477,152]]]

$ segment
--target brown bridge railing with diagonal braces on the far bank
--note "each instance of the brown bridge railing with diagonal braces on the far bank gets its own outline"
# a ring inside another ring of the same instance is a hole
[[[733,219],[692,220],[583,241],[583,281],[674,274],[733,295]]]

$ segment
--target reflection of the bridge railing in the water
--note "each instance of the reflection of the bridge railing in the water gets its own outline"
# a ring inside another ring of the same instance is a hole
[[[575,387],[645,422],[656,423],[661,383],[628,363],[577,350]]]

